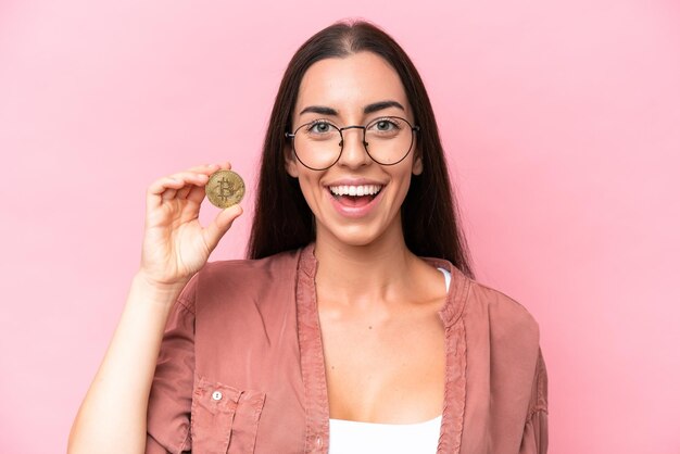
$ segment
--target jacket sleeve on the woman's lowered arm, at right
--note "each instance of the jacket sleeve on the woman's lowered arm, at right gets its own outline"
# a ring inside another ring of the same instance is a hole
[[[539,349],[531,402],[529,403],[519,454],[545,453],[547,453],[547,373],[543,354]]]

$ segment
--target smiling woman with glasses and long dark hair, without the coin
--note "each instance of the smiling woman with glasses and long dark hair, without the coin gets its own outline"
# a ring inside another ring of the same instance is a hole
[[[299,49],[251,260],[206,265],[242,213],[198,224],[219,167],[149,188],[141,266],[70,452],[546,451],[538,326],[471,280],[431,105],[389,36],[340,23]]]

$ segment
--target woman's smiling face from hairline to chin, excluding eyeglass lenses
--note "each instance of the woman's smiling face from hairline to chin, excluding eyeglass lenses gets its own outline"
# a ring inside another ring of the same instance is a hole
[[[292,125],[295,130],[320,121],[313,133],[323,133],[328,130],[326,123],[338,128],[365,126],[386,116],[415,123],[396,72],[380,56],[360,52],[310,66],[300,84]],[[376,130],[383,134],[392,127],[379,122]],[[347,129],[342,134],[342,154],[325,171],[305,167],[292,150],[287,150],[287,171],[299,179],[316,217],[317,241],[332,238],[345,244],[366,245],[386,235],[402,235],[401,205],[412,174],[423,171],[420,160],[414,157],[415,139],[408,155],[388,166],[376,163],[367,154],[362,129]],[[361,193],[364,196],[357,196]]]

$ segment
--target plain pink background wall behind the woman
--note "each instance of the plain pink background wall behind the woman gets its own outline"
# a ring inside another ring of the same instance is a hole
[[[147,185],[228,159],[252,188],[287,61],[347,16],[413,56],[478,278],[541,325],[551,453],[680,452],[680,7],[440,3],[0,2],[2,452],[65,450]]]

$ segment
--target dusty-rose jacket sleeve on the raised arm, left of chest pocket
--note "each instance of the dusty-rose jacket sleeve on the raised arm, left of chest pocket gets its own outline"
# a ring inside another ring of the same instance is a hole
[[[194,280],[175,303],[163,335],[147,409],[147,454],[191,451]]]

